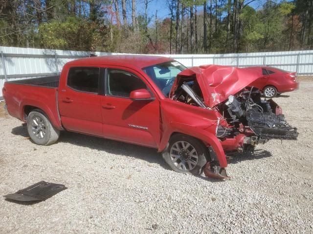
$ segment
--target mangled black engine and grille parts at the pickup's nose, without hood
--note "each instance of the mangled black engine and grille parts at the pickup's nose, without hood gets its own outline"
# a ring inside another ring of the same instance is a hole
[[[282,114],[282,109],[272,100],[261,98],[261,91],[246,88],[217,106],[227,123],[232,126],[227,133],[240,132],[249,136],[245,143],[256,145],[268,139],[296,140],[298,132],[291,127]],[[219,129],[221,130],[221,127]]]

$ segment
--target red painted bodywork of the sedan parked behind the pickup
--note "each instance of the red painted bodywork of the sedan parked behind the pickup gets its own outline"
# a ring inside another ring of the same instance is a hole
[[[267,86],[274,86],[278,93],[285,93],[299,88],[297,74],[287,72],[274,67],[248,67],[260,74],[260,78],[251,83],[251,86],[263,90]],[[270,74],[263,75],[262,69],[266,69]],[[272,73],[273,72],[273,73]]]

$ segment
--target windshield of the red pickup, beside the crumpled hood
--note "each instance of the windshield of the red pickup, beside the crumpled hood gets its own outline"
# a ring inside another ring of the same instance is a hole
[[[177,74],[185,69],[187,69],[185,66],[173,60],[145,67],[142,70],[155,82],[165,97],[168,97]]]

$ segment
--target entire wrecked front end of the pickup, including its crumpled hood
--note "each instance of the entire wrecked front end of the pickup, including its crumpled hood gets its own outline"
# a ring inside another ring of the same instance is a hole
[[[253,152],[257,144],[269,139],[296,140],[297,129],[291,127],[282,109],[262,92],[249,84],[259,76],[248,69],[225,66],[202,66],[178,75],[170,98],[208,111],[220,117],[208,128],[215,131],[224,152]],[[213,148],[208,146],[210,160],[203,166],[205,176],[228,178],[220,167]]]

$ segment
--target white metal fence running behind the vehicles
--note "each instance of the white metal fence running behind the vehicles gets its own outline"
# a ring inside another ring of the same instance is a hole
[[[62,51],[19,47],[1,47],[0,98],[5,81],[58,74],[70,60],[89,56],[88,51]],[[95,52],[98,56],[118,53]],[[313,50],[215,55],[160,55],[178,60],[187,67],[220,64],[237,67],[273,66],[313,75]]]

